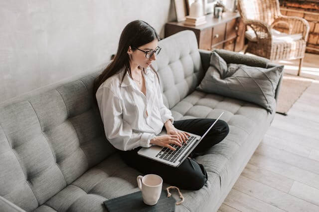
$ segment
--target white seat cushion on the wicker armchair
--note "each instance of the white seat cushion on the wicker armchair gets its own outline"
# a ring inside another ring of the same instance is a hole
[[[303,38],[303,34],[292,34],[289,35],[284,32],[280,32],[276,29],[271,29],[273,43],[282,43],[282,42],[292,42],[292,41],[298,41]],[[245,36],[248,40],[252,42],[257,42],[257,36],[254,32],[254,30],[250,29],[245,32]]]

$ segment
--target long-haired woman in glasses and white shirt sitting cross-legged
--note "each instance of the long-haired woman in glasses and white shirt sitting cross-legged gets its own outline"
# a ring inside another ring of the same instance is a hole
[[[166,183],[180,189],[200,189],[207,173],[192,157],[203,155],[229,132],[226,122],[219,120],[178,167],[138,155],[142,147],[159,145],[172,150],[173,144],[186,143],[186,132],[203,135],[215,119],[174,121],[162,101],[157,72],[151,66],[160,53],[159,35],[148,23],[136,20],[123,30],[117,54],[96,78],[94,95],[101,113],[108,141],[119,151],[129,166],[143,174],[160,175]],[[151,68],[150,68],[151,67]],[[161,135],[165,127],[167,135]]]

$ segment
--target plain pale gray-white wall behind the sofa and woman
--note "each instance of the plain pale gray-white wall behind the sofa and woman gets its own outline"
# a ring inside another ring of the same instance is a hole
[[[132,20],[163,38],[172,0],[0,0],[0,102],[90,70]]]

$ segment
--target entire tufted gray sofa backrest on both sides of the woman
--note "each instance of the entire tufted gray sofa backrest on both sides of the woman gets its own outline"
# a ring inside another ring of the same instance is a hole
[[[159,46],[154,66],[171,108],[201,80],[200,56],[192,31],[163,39]],[[32,211],[115,152],[93,101],[93,81],[100,73],[1,104],[0,196]]]

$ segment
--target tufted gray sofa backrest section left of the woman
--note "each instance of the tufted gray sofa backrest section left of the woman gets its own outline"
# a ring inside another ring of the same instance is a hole
[[[32,211],[115,152],[93,104],[97,74],[0,107],[0,196]]]

